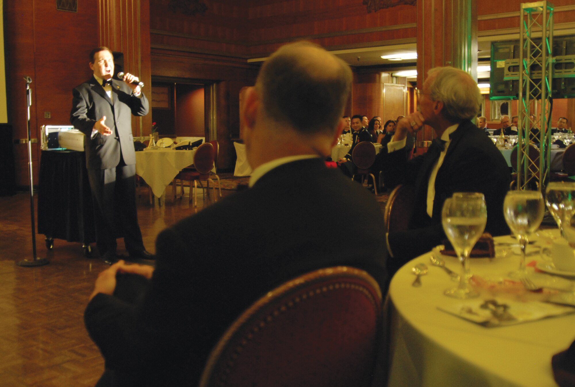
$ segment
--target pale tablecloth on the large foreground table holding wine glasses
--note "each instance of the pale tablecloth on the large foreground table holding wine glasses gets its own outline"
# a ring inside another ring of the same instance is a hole
[[[511,237],[497,237],[495,241],[497,244],[516,243]],[[538,244],[528,246],[527,253],[536,253],[542,247]],[[549,240],[547,247],[548,244]],[[495,258],[471,258],[471,274],[491,281],[489,283],[500,281],[508,272],[518,268],[519,256],[514,253],[518,252],[517,249],[497,247]],[[398,270],[390,283],[388,385],[556,386],[551,356],[565,350],[575,339],[575,314],[499,327],[485,327],[448,314],[439,308],[459,307],[462,300],[443,295],[445,289],[455,287],[457,282],[442,268],[431,265],[432,254],[438,253],[430,252],[408,262]],[[448,268],[459,273],[457,258],[442,257]],[[527,262],[545,262],[543,258],[545,254],[536,253],[530,255]],[[413,287],[415,276],[412,268],[419,263],[426,264],[428,272],[421,276],[421,287]],[[534,269],[528,270],[531,273]],[[539,280],[549,280],[551,283],[559,278],[557,281],[563,281],[563,290],[565,281],[567,289],[573,289],[573,283],[569,281],[575,280],[551,276],[547,278],[542,273],[533,273],[532,276],[542,276],[538,277]],[[520,286],[520,283],[516,285]],[[537,295],[524,288],[522,290],[518,295],[507,297],[531,302],[534,301],[532,297],[548,296]],[[493,298],[492,292],[482,290],[480,300]],[[545,292],[558,292],[572,297],[569,291],[547,289]]]

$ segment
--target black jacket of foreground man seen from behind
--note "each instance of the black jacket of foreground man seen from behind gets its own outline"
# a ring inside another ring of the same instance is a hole
[[[319,158],[283,164],[162,231],[141,299],[98,294],[86,327],[106,367],[131,372],[135,385],[197,385],[223,332],[279,284],[334,265],[385,284],[382,225],[373,195],[337,169]]]

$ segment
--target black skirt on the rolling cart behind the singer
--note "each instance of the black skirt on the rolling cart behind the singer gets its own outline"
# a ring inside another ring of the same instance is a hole
[[[38,233],[68,242],[95,241],[94,210],[84,152],[42,151]]]

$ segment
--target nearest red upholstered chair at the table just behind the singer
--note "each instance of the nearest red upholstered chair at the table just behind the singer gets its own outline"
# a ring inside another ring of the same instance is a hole
[[[181,198],[183,197],[183,182],[189,181],[190,182],[190,195],[189,198],[191,200],[191,182],[194,182],[194,207],[198,206],[198,181],[200,181],[200,186],[202,187],[202,192],[204,193],[205,199],[205,191],[204,185],[202,185],[202,181],[206,181],[207,183],[212,183],[214,185],[214,181],[210,178],[210,171],[212,171],[214,165],[214,147],[209,142],[198,146],[196,149],[196,153],[194,153],[194,167],[196,168],[195,171],[185,170],[181,171],[174,177],[174,198],[175,192],[177,188],[177,181],[180,180],[181,189],[180,195]],[[206,185],[206,189],[209,189],[209,185]],[[208,191],[209,195],[209,191]],[[214,198],[216,193],[214,191]]]

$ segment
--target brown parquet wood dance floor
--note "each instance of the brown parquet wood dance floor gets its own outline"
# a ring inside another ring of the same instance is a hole
[[[151,252],[160,231],[204,208],[201,193],[197,208],[187,195],[175,203],[168,195],[165,206],[153,207],[147,189],[139,193],[140,229]],[[205,205],[212,201],[210,193]],[[0,206],[0,387],[94,386],[104,359],[86,332],[83,312],[95,278],[108,266],[83,257],[81,243],[55,239],[53,250],[48,250],[41,234],[36,234],[37,256],[50,263],[17,266],[17,261],[32,259],[30,196],[0,198]],[[125,253],[121,239],[118,253]]]

